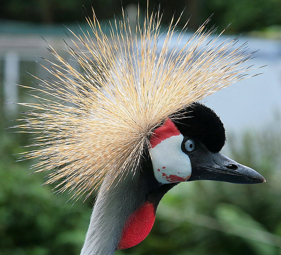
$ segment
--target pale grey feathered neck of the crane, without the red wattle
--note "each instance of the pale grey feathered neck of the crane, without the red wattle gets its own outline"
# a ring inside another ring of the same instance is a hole
[[[105,178],[100,188],[80,255],[113,254],[125,221],[144,203],[138,176],[129,173],[110,187],[109,179]]]

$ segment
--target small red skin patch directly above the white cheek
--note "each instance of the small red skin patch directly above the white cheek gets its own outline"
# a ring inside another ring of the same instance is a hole
[[[150,148],[154,148],[156,145],[173,135],[180,135],[180,131],[178,131],[174,122],[167,118],[162,126],[154,130],[153,135],[150,138]]]

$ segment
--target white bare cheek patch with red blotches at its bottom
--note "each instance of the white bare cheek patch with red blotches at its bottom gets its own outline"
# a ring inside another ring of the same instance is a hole
[[[173,135],[150,148],[154,176],[160,183],[187,181],[191,175],[188,155],[181,149],[183,135]]]

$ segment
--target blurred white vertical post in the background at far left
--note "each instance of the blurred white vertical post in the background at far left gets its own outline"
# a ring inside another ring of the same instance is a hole
[[[4,57],[3,92],[4,111],[7,118],[15,116],[17,111],[18,86],[19,83],[19,56],[16,52],[10,51]]]

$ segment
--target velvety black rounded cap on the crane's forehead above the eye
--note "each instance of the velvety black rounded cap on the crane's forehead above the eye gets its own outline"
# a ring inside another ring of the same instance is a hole
[[[225,129],[212,109],[195,102],[176,114],[184,117],[174,121],[182,135],[200,140],[211,152],[222,149],[226,140]]]

